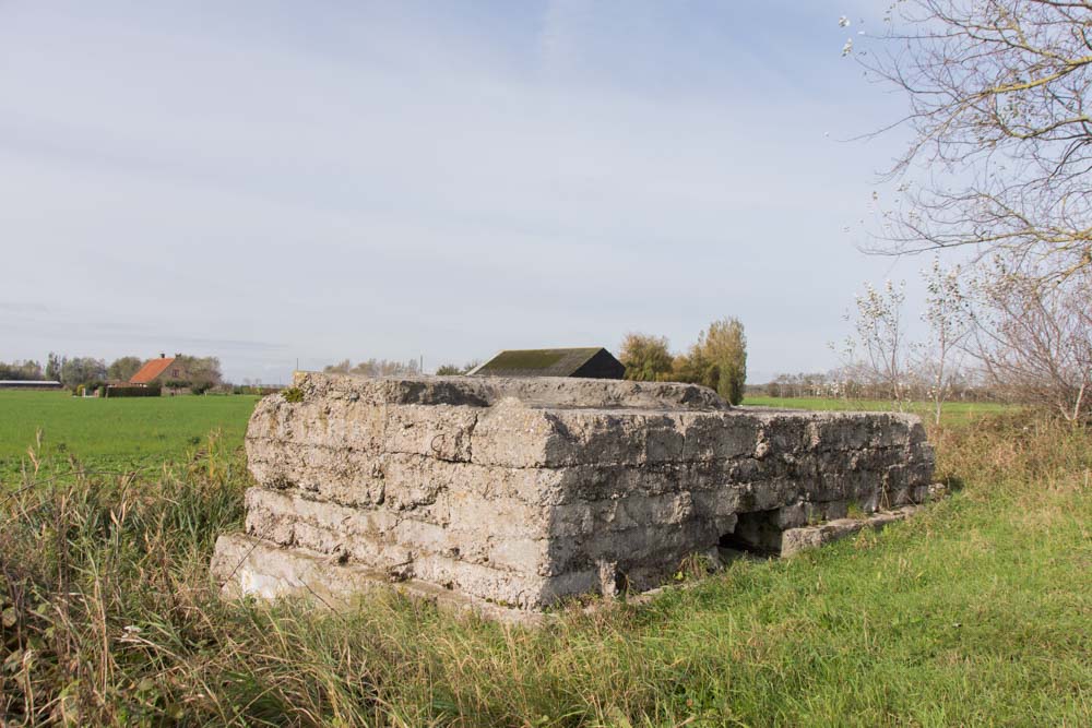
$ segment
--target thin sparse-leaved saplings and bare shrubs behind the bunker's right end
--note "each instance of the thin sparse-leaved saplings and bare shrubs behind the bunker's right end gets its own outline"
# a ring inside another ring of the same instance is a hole
[[[1065,283],[1021,272],[923,272],[928,334],[911,341],[902,284],[866,286],[846,315],[853,333],[826,386],[840,396],[900,404],[985,397],[1045,407],[1071,422],[1092,419],[1092,268]],[[775,382],[773,391],[783,391]],[[828,389],[828,391],[831,391]]]

